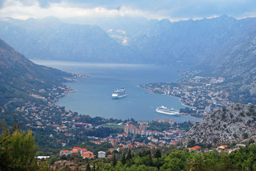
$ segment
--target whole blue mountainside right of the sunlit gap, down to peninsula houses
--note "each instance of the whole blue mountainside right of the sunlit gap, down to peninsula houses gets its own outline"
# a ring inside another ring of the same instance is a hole
[[[256,18],[164,19],[132,41],[143,60],[224,77],[230,101],[256,104]]]

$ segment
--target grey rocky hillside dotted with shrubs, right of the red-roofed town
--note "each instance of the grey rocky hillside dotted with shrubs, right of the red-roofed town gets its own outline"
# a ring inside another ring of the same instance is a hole
[[[192,140],[213,145],[241,142],[256,134],[255,111],[254,105],[236,104],[213,112],[184,135],[182,145],[186,147]]]

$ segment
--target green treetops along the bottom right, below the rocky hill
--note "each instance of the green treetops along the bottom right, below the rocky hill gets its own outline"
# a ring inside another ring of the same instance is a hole
[[[124,155],[121,160],[109,161],[100,170],[256,170],[256,145],[241,148],[230,154],[224,152],[189,152],[172,150],[161,156],[160,150]]]

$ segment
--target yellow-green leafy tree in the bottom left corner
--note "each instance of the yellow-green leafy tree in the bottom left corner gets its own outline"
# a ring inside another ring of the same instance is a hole
[[[6,139],[6,135],[7,138]],[[0,135],[0,170],[36,170],[35,138],[32,131],[26,134],[16,130],[11,136],[8,133]],[[3,141],[4,140],[4,141]]]

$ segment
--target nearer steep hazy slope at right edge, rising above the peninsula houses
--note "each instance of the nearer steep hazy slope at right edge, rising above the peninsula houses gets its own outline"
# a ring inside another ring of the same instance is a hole
[[[241,43],[221,57],[212,73],[226,78],[223,90],[230,93],[230,100],[256,104],[256,34],[237,39]]]

